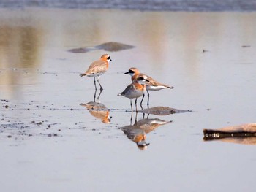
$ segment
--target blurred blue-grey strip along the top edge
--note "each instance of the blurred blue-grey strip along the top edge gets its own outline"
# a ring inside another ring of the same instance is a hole
[[[132,9],[141,11],[188,11],[188,12],[252,12],[255,0],[0,0],[1,8],[26,9],[29,7],[61,9]]]

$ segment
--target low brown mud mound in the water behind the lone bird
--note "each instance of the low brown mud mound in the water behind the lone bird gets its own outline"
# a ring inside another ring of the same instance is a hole
[[[91,50],[106,50],[110,52],[116,52],[120,50],[132,49],[133,47],[134,46],[132,45],[126,45],[119,42],[106,42],[106,43],[102,43],[101,45],[96,45],[94,47],[80,47],[80,48],[75,48],[68,51],[71,53],[87,53]]]

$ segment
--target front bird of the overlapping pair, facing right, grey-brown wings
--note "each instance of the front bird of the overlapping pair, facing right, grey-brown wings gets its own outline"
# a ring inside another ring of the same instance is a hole
[[[132,99],[135,99],[135,106],[136,106],[136,112],[137,110],[137,99],[140,96],[143,96],[144,92],[146,91],[146,85],[145,83],[148,82],[146,79],[146,76],[140,76],[138,77],[132,84],[128,85],[127,88],[121,93],[118,94],[118,96],[125,96],[130,99],[131,109],[132,109]]]

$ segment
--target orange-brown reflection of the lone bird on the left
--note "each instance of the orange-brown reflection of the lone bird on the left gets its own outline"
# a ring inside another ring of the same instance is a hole
[[[104,104],[99,102],[88,102],[87,104],[80,104],[83,107],[86,107],[87,110],[95,118],[99,118],[103,123],[110,123],[111,117],[109,115],[109,110],[105,107]]]

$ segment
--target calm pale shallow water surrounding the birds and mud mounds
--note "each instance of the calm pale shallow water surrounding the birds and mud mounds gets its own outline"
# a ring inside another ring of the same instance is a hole
[[[255,146],[204,142],[203,129],[255,122],[255,19],[255,12],[1,9],[3,191],[254,191]],[[135,47],[68,51],[105,42]],[[94,83],[79,74],[103,53],[113,59],[100,78],[107,124],[80,105],[94,101]],[[174,86],[151,91],[150,107],[192,110],[149,115],[172,122],[143,133],[146,150],[122,130],[136,118],[129,99],[117,96],[132,66]]]

